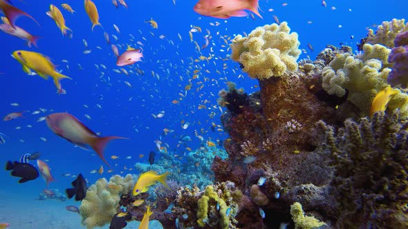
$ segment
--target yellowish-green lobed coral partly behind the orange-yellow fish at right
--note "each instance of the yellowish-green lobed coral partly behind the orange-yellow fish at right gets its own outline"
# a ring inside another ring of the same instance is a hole
[[[363,54],[339,54],[329,66],[322,70],[322,88],[338,97],[349,91],[347,99],[360,108],[362,116],[369,115],[375,95],[387,87],[391,65],[387,59],[391,50],[379,44],[364,44]],[[399,90],[391,97],[389,110],[400,109],[402,116],[408,115],[408,95]]]

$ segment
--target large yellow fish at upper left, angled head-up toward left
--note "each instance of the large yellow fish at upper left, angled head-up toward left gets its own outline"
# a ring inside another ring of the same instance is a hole
[[[62,90],[61,83],[59,83],[61,79],[71,79],[64,74],[57,72],[54,64],[38,52],[17,50],[12,53],[12,57],[21,63],[24,72],[27,74],[32,74],[31,70],[34,70],[44,79],[48,79],[48,76],[53,77],[54,84],[58,91]]]

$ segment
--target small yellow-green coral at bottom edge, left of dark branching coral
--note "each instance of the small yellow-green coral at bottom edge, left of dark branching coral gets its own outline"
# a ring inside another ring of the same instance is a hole
[[[325,223],[315,217],[306,216],[302,209],[302,204],[299,202],[295,202],[290,206],[290,215],[292,215],[293,222],[295,223],[295,229],[318,228],[325,225]]]

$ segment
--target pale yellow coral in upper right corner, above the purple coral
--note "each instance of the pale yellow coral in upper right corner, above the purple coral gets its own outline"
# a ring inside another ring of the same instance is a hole
[[[408,23],[405,24],[405,19],[392,19],[391,21],[384,21],[380,26],[377,27],[377,30],[369,29],[367,35],[366,43],[371,44],[382,44],[387,46],[387,48],[394,47],[394,39],[399,32],[407,31]]]

